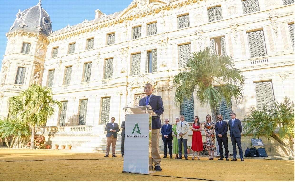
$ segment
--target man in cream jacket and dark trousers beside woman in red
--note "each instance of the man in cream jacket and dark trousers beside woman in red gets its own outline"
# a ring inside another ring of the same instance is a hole
[[[185,160],[189,160],[187,158],[187,140],[189,139],[189,123],[184,121],[184,116],[180,115],[180,122],[176,125],[176,133],[178,139],[178,158],[182,159],[182,144],[184,149],[184,157]]]

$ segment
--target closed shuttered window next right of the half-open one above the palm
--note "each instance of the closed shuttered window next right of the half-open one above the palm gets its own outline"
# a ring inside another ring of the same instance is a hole
[[[249,41],[251,58],[266,56],[267,54],[266,54],[263,31],[259,30],[259,31],[248,32],[247,36]]]

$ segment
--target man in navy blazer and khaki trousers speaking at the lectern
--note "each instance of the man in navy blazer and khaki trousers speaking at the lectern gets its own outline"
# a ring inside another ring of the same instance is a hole
[[[139,101],[139,106],[151,106],[159,116],[152,116],[152,166],[155,163],[155,170],[162,171],[160,167],[160,128],[162,127],[160,115],[164,112],[164,106],[161,96],[153,95],[153,86],[150,83],[145,84],[146,96]]]

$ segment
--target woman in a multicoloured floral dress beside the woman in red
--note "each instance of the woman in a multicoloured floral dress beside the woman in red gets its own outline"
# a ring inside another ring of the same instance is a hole
[[[204,131],[206,133],[206,144],[205,150],[209,153],[209,160],[214,159],[214,130],[215,130],[215,123],[212,121],[211,116],[208,114],[206,117],[206,122],[204,123]]]

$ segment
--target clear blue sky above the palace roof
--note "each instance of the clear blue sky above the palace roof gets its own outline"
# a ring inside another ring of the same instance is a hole
[[[37,5],[39,0],[1,0],[0,6],[0,65],[5,54],[9,31],[18,11],[24,11]],[[99,9],[106,15],[123,11],[131,4],[132,0],[42,0],[41,6],[49,14],[52,30],[59,30],[67,26],[95,19],[95,10]],[[2,66],[0,66],[1,69]]]

